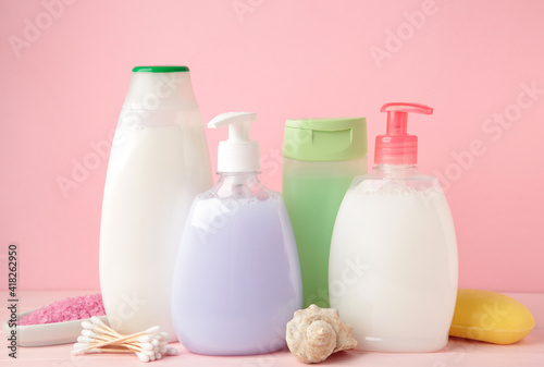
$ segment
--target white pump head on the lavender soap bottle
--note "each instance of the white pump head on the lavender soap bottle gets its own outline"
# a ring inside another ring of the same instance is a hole
[[[228,140],[219,143],[219,172],[255,172],[260,169],[259,143],[249,139],[249,123],[255,112],[226,112],[208,123],[209,129],[228,125]]]

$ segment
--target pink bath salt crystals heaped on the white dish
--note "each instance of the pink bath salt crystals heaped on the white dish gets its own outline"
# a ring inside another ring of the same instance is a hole
[[[91,316],[103,316],[102,295],[87,294],[79,297],[55,301],[18,320],[20,326],[63,322],[87,319]]]

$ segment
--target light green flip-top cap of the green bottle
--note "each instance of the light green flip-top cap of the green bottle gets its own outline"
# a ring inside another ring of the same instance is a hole
[[[287,120],[283,156],[296,160],[334,161],[367,155],[367,119]]]

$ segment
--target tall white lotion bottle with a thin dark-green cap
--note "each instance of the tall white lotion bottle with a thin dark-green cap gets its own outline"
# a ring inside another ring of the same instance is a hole
[[[100,224],[100,288],[110,326],[159,326],[173,340],[174,262],[194,197],[212,185],[186,66],[136,66],[115,130]]]

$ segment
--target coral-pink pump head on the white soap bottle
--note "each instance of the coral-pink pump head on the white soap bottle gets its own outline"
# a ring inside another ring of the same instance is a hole
[[[387,112],[387,131],[375,137],[375,164],[416,164],[418,137],[407,133],[408,112],[432,114],[433,109],[419,103],[385,103],[380,112]]]

